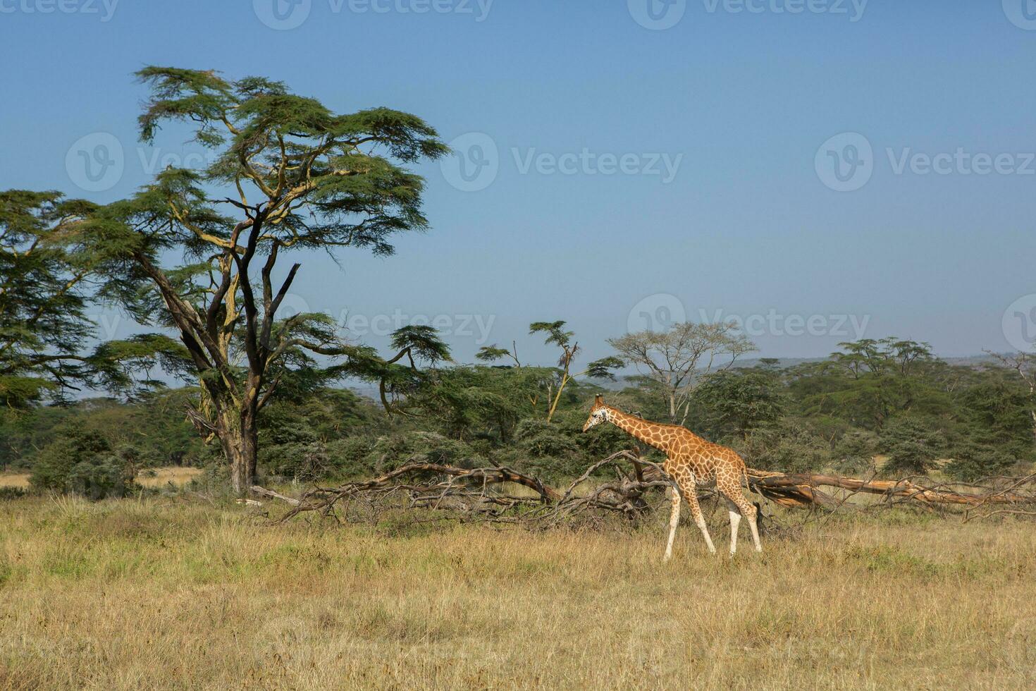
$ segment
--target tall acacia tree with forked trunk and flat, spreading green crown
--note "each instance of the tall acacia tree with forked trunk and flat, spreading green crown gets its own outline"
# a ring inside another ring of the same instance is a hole
[[[214,150],[213,163],[166,169],[132,198],[85,214],[84,234],[105,257],[103,293],[142,323],[178,332],[201,390],[189,414],[219,439],[243,492],[255,473],[257,416],[279,386],[386,371],[328,315],[279,317],[300,268],[282,260],[347,247],[391,254],[395,233],[427,226],[424,181],[402,165],[448,147],[413,115],[337,114],[266,79],[170,67],[138,77],[151,90],[142,141],[182,121]]]

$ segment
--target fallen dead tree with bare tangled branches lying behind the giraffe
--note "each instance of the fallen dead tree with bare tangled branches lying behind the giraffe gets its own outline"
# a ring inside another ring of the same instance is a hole
[[[602,476],[613,479],[602,481]],[[593,481],[592,481],[593,479]],[[913,503],[925,507],[957,507],[969,511],[966,519],[1000,513],[1036,515],[1036,493],[1029,489],[1036,473],[1026,478],[992,478],[965,486],[925,485],[917,478],[904,480],[859,480],[823,473],[782,473],[748,468],[751,491],[794,509],[837,510],[853,506],[850,497],[879,495],[866,508]],[[591,465],[566,489],[558,490],[539,478],[509,467],[460,468],[438,463],[412,462],[371,480],[339,487],[315,487],[299,497],[255,486],[254,494],[291,507],[279,520],[315,512],[346,521],[376,520],[391,507],[450,511],[462,519],[499,522],[536,521],[556,523],[573,517],[597,519],[618,514],[636,519],[652,511],[661,491],[671,482],[661,465],[640,458],[635,451],[622,451]],[[839,496],[821,488],[836,490]],[[519,491],[523,488],[524,491]],[[708,498],[713,492],[699,496]],[[972,514],[988,508],[986,514]]]

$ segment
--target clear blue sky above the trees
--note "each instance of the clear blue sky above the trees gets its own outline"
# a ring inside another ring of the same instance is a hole
[[[146,64],[458,141],[419,167],[429,233],[303,259],[297,307],[375,345],[421,316],[462,361],[517,339],[545,362],[534,320],[568,320],[587,356],[680,316],[746,320],[767,356],[860,335],[963,355],[1036,328],[1015,316],[1036,314],[1036,3],[0,0],[0,189],[104,202],[200,161],[179,131],[138,144]],[[121,173],[84,189],[77,151],[108,135]]]

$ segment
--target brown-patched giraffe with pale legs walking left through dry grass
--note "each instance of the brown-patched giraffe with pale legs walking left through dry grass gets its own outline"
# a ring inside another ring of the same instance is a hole
[[[665,560],[672,556],[672,540],[677,536],[677,523],[680,522],[681,495],[691,507],[691,516],[706,539],[709,551],[716,553],[709,527],[698,506],[697,486],[716,483],[716,489],[726,499],[730,515],[730,554],[738,550],[738,525],[741,517],[748,518],[748,526],[752,529],[752,541],[755,551],[761,552],[759,530],[755,524],[755,507],[741,491],[741,480],[747,482],[745,461],[732,449],[721,447],[702,439],[680,425],[663,425],[653,423],[636,415],[623,412],[610,405],[605,405],[599,395],[594,399],[589,418],[583,425],[583,432],[601,423],[611,423],[627,434],[650,443],[666,455],[662,467],[673,480],[672,513],[669,515],[669,541],[665,546]]]

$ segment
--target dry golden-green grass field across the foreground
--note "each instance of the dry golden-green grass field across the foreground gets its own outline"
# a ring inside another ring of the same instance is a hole
[[[0,501],[0,688],[1036,684],[1031,524],[887,514],[732,562],[691,525],[665,565],[663,539]]]

